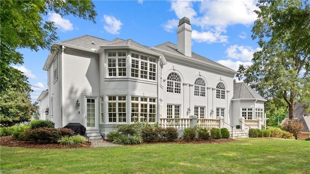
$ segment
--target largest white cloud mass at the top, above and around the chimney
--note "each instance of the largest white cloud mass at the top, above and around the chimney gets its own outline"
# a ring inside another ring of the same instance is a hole
[[[194,6],[198,6],[194,8]],[[199,9],[196,10],[195,9]],[[221,42],[226,43],[228,36],[223,35],[230,25],[241,24],[249,26],[257,18],[253,12],[256,1],[252,0],[231,0],[231,1],[171,1],[171,10],[175,12],[178,19],[169,19],[164,25],[164,30],[171,32],[178,26],[179,19],[188,17],[190,23],[201,28],[196,36],[201,35],[208,39],[199,39],[197,42]],[[200,33],[200,34],[199,34]],[[245,34],[239,37],[245,38]]]

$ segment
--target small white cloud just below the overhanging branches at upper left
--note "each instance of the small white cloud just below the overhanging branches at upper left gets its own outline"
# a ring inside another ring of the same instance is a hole
[[[70,20],[62,18],[62,16],[57,13],[49,13],[48,16],[48,20],[53,21],[55,27],[59,28],[61,31],[66,32],[73,30],[73,24],[70,23]]]

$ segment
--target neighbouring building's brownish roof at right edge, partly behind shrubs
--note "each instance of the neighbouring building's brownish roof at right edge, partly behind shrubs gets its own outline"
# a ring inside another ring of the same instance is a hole
[[[306,116],[305,116],[306,115]],[[289,114],[285,118],[289,118]],[[303,104],[297,102],[294,107],[294,118],[298,118],[298,121],[304,125],[302,132],[310,132],[310,113],[306,112],[303,108]]]

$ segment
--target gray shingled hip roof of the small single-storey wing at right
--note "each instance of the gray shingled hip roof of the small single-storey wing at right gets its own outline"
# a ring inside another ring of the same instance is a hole
[[[265,100],[261,95],[256,93],[252,88],[250,88],[246,83],[234,83],[233,84],[233,98],[232,99],[242,99],[242,98],[253,98]]]

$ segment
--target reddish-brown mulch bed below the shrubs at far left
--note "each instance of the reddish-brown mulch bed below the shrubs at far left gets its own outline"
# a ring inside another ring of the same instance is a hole
[[[62,148],[90,147],[90,145],[88,145],[87,143],[62,145],[58,143],[37,143],[37,142],[31,142],[31,141],[12,140],[12,136],[1,136],[0,145],[9,146],[9,147],[34,148],[34,149],[62,149]]]

